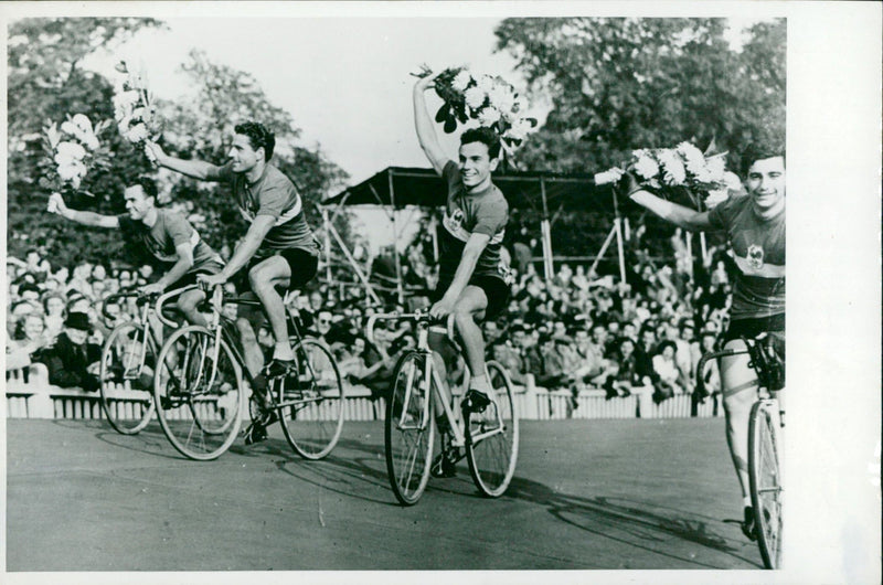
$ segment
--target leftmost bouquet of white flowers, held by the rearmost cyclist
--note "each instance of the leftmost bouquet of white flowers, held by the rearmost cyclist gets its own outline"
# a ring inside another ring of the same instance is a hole
[[[43,149],[46,157],[41,161],[43,177],[40,187],[51,191],[78,191],[86,174],[96,167],[109,166],[109,153],[98,136],[109,125],[108,120],[93,127],[83,114],[67,116],[61,127],[50,123],[43,128]],[[88,191],[83,191],[92,195]]]

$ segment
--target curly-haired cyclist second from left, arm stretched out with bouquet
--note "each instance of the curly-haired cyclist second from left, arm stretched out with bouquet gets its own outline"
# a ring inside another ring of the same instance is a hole
[[[240,212],[251,223],[227,265],[201,280],[223,284],[244,268],[252,291],[264,307],[275,339],[272,359],[265,368],[255,334],[260,316],[242,311],[244,318],[236,321],[246,366],[255,376],[253,391],[259,407],[267,406],[267,380],[286,375],[295,360],[285,305],[276,287],[302,288],[316,275],[319,263],[319,246],[307,224],[300,193],[270,162],[275,146],[273,131],[255,121],[234,127],[230,161],[220,167],[171,157],[156,142],[147,143],[161,167],[202,181],[228,182]],[[273,412],[265,410],[263,414],[263,419],[255,421],[246,432],[246,444],[266,438]]]

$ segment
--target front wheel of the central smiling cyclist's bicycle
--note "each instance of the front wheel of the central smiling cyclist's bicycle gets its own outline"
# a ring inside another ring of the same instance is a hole
[[[402,355],[386,400],[386,471],[395,499],[403,506],[421,499],[433,462],[435,421],[429,389],[423,387],[427,360],[432,357],[418,351]]]

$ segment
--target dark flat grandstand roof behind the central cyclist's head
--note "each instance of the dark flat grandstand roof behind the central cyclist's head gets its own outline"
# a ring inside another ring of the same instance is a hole
[[[609,185],[595,185],[589,174],[553,172],[508,172],[494,174],[493,182],[514,209],[543,210],[543,192],[547,211],[605,209],[613,210]],[[389,167],[370,179],[350,187],[322,202],[322,205],[442,206],[445,182],[433,169]]]

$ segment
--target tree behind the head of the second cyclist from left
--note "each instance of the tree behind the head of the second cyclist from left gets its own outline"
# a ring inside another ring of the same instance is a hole
[[[249,119],[260,121],[276,134],[274,163],[296,183],[308,222],[318,226],[321,220],[316,204],[342,188],[348,174],[318,146],[310,149],[299,143],[300,129],[291,115],[273,105],[251,74],[212,63],[199,51],[192,51],[181,68],[196,92],[187,102],[160,104],[167,150],[181,158],[223,164],[235,125]],[[225,185],[184,179],[172,193],[174,200],[192,201],[199,209],[203,220],[196,222],[198,228],[213,245],[232,245],[245,233],[247,226]],[[337,227],[347,234],[349,223],[341,215]]]

